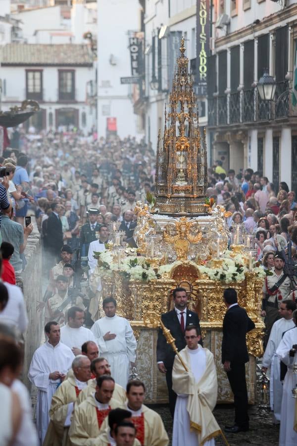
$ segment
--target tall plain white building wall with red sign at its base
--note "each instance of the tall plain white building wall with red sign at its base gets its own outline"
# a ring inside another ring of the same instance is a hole
[[[139,140],[144,133],[133,109],[134,86],[121,84],[121,77],[132,76],[129,37],[140,31],[141,7],[138,0],[100,0],[97,7],[98,135]]]

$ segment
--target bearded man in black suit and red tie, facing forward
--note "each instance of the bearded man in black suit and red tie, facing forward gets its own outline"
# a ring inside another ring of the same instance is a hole
[[[188,296],[185,288],[175,288],[173,290],[174,309],[164,313],[161,320],[165,327],[170,330],[175,339],[175,345],[178,351],[186,346],[185,327],[195,325],[198,328],[198,335],[201,335],[198,314],[188,310]],[[202,341],[199,343],[202,345]],[[167,344],[162,329],[159,329],[157,340],[157,364],[161,373],[166,374],[166,383],[168,388],[169,409],[173,418],[176,402],[176,393],[172,390],[172,367],[175,353],[171,346]]]

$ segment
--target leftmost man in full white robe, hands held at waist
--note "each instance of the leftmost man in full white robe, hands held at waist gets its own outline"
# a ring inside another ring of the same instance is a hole
[[[60,326],[48,322],[45,326],[48,340],[39,347],[32,358],[28,378],[37,389],[36,425],[39,438],[43,443],[48,425],[51,398],[70,369],[74,354],[60,342]]]

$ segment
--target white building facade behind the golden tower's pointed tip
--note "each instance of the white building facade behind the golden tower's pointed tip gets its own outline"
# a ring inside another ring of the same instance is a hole
[[[185,37],[186,56],[193,73],[194,88],[197,65],[197,0],[146,0],[145,2],[146,67],[146,140],[156,149],[159,128],[164,125],[165,104],[180,55],[181,37]],[[206,125],[206,100],[196,89],[199,125]]]

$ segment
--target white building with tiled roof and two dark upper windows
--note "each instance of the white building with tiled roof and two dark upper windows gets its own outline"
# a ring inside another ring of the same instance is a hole
[[[86,45],[8,44],[0,47],[2,110],[26,99],[40,105],[27,125],[37,130],[74,126],[88,134],[96,110],[87,104],[87,84],[95,79]]]

